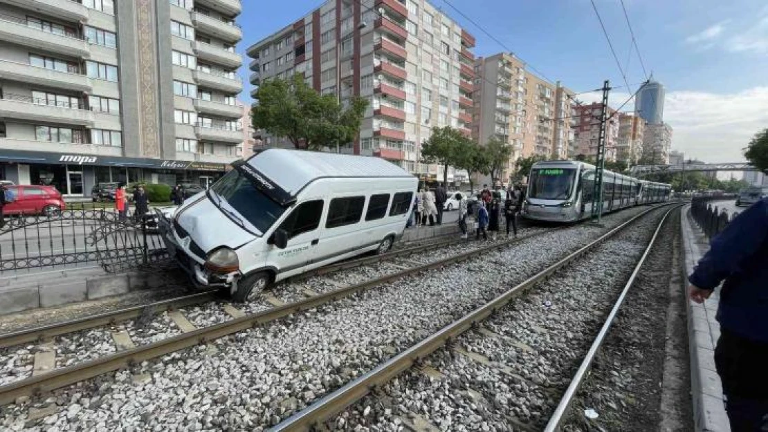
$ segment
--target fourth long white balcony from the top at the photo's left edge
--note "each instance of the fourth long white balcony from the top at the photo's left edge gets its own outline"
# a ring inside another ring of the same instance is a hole
[[[94,123],[94,113],[84,109],[82,104],[48,105],[45,100],[8,93],[0,99],[0,118],[89,127]]]

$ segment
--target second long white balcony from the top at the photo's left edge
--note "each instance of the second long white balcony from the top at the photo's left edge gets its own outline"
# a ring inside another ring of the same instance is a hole
[[[71,57],[89,58],[91,48],[77,35],[59,35],[27,25],[24,18],[0,14],[0,41],[29,48],[58,52]]]

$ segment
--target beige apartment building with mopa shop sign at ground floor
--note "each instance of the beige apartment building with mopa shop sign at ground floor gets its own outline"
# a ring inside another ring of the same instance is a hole
[[[207,185],[237,158],[240,0],[0,0],[0,178]]]

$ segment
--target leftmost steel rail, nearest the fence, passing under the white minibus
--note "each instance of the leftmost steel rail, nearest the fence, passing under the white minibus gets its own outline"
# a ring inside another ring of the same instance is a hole
[[[521,239],[523,238],[525,237],[521,237]],[[413,246],[408,249],[400,249],[379,256],[366,256],[359,259],[352,259],[349,261],[323,266],[319,269],[306,272],[302,275],[294,276],[291,278],[291,280],[302,280],[310,278],[314,275],[325,275],[330,272],[336,272],[343,269],[351,269],[359,265],[369,264],[371,262],[380,262],[386,259],[397,258],[399,256],[411,255],[412,253],[416,252],[423,252],[429,249],[440,248],[452,243],[458,243],[458,241],[455,239],[449,239],[438,242],[429,242],[425,245]],[[19,345],[28,342],[45,341],[50,338],[54,338],[55,336],[66,335],[69,333],[74,333],[75,331],[88,330],[89,328],[101,327],[103,325],[114,325],[118,322],[124,322],[129,319],[138,318],[139,316],[146,313],[147,310],[151,311],[153,315],[157,315],[159,313],[177,308],[185,308],[188,306],[212,302],[216,298],[217,294],[215,290],[197,292],[191,295],[182,295],[176,298],[168,298],[159,302],[121,308],[119,310],[104,312],[98,315],[91,315],[83,318],[75,318],[65,322],[58,322],[55,324],[42,325],[35,328],[25,328],[24,330],[12,331],[10,333],[0,335],[0,348],[7,348],[13,345]]]

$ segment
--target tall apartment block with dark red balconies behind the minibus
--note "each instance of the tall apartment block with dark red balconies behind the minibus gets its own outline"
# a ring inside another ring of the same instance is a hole
[[[359,139],[339,151],[383,157],[435,180],[442,168],[419,163],[421,144],[432,127],[471,134],[474,46],[472,35],[425,0],[328,0],[247,54],[256,86],[303,74],[342,102],[366,97]],[[264,143],[290,147],[280,137],[265,135]],[[449,180],[460,180],[454,174]]]

